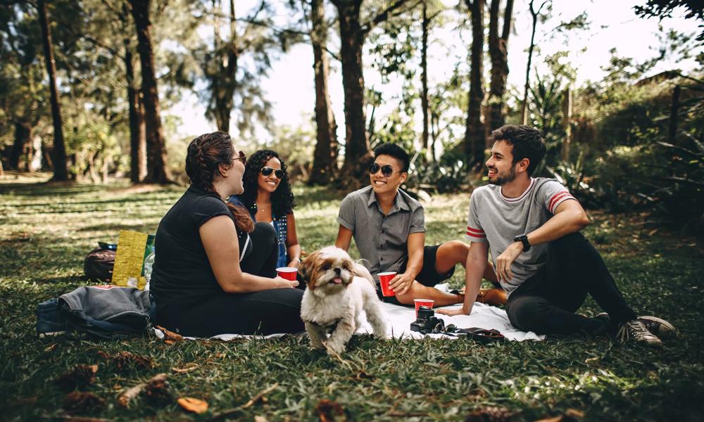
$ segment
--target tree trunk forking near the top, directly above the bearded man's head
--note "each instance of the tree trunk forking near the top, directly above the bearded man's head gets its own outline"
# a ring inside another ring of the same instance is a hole
[[[497,129],[505,122],[505,93],[508,77],[508,36],[511,29],[513,0],[506,1],[503,13],[503,31],[498,35],[498,11],[501,0],[491,1],[489,11],[489,56],[491,57],[491,82],[489,84],[489,121],[486,126]]]

